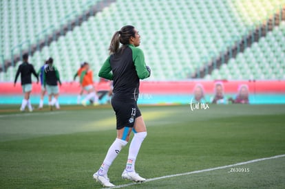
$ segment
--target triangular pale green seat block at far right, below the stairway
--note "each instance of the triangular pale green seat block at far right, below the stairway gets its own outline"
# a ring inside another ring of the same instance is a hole
[[[285,21],[253,43],[229,63],[215,69],[206,79],[285,79]]]

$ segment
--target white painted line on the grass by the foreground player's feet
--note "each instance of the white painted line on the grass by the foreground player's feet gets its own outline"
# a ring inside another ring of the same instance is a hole
[[[180,177],[180,176],[184,176],[184,175],[192,175],[192,174],[196,174],[196,173],[203,173],[203,172],[209,172],[211,170],[218,170],[218,169],[222,169],[222,168],[229,168],[229,167],[233,167],[233,166],[240,166],[240,165],[244,165],[244,164],[251,164],[254,162],[260,162],[260,161],[264,161],[264,160],[268,160],[268,159],[276,159],[279,157],[285,157],[285,154],[282,155],[275,155],[272,157],[264,157],[264,158],[260,158],[260,159],[253,159],[247,162],[240,162],[237,164],[231,164],[231,165],[227,165],[227,166],[220,166],[220,167],[216,167],[216,168],[207,168],[207,169],[203,169],[203,170],[194,170],[191,172],[187,172],[187,173],[180,173],[180,174],[175,174],[175,175],[166,175],[166,176],[162,176],[162,177],[156,177],[156,178],[152,178],[152,179],[147,179],[145,182],[148,181],[156,181],[156,180],[160,180],[160,179],[167,179],[167,178],[171,178],[171,177]],[[118,186],[114,186],[112,188],[124,188],[124,187],[128,187],[128,186],[132,186],[135,185],[137,183],[130,183],[130,184],[123,184],[123,185],[118,185]]]

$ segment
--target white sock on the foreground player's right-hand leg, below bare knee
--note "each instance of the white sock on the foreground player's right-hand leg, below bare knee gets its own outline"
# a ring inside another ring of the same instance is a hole
[[[129,144],[129,156],[127,157],[126,170],[131,172],[135,171],[136,157],[138,156],[138,151],[140,151],[140,146],[143,140],[147,137],[147,132],[135,133],[131,144]]]

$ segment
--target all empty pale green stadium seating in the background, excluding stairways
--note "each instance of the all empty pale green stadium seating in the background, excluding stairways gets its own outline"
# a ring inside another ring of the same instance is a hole
[[[35,34],[44,30],[48,24],[60,27],[62,20],[58,18],[68,17],[69,10],[78,12],[73,16],[80,16],[87,9],[83,5],[89,5],[91,1],[71,0],[66,3],[55,0],[29,0],[23,1],[22,5],[16,5],[15,1],[7,2],[1,1],[1,15],[16,15],[4,19],[5,23],[1,23],[6,24],[4,28],[9,28],[1,29],[1,52],[5,52],[3,54],[8,54],[9,57],[13,45],[25,41],[26,38],[36,41]],[[37,10],[31,10],[32,5]],[[153,69],[150,80],[187,79],[211,58],[219,56],[220,52],[235,45],[236,41],[240,41],[245,34],[257,27],[257,23],[268,20],[282,8],[282,5],[285,5],[282,0],[117,0],[40,51],[34,52],[30,62],[39,68],[45,58],[54,57],[54,63],[59,66],[63,80],[71,80],[82,61],[91,63],[96,74],[107,58],[107,48],[112,34],[121,26],[131,24],[140,31],[140,47],[145,52],[147,64]],[[27,11],[17,12],[19,8]],[[47,11],[48,9],[53,11]],[[39,16],[36,16],[38,14]],[[22,32],[21,28],[28,29]],[[264,39],[261,38],[244,53],[229,60],[228,65],[214,69],[211,75],[208,74],[204,78],[282,78],[283,69],[279,69],[278,72],[275,66],[283,66],[283,31],[284,23],[273,32],[268,31]],[[262,55],[258,54],[264,54],[265,58],[260,58]],[[273,56],[275,58],[272,58]],[[237,67],[248,67],[246,70],[249,71],[244,72]],[[256,67],[258,69],[254,69]],[[270,68],[268,70],[271,70],[271,74],[265,74],[264,67]],[[11,81],[14,72],[15,68],[9,67],[6,73],[0,73],[0,79]]]

